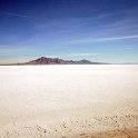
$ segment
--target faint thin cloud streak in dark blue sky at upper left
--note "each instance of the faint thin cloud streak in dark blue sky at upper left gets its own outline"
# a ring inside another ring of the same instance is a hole
[[[3,14],[12,16],[12,17],[19,17],[19,18],[31,18],[31,19],[38,19],[34,17],[26,16],[26,14],[19,14],[19,13],[12,13],[12,12],[7,12],[7,11],[1,11]]]

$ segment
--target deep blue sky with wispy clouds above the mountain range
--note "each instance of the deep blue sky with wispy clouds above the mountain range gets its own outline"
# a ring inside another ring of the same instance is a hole
[[[138,0],[1,0],[0,63],[41,56],[138,62]]]

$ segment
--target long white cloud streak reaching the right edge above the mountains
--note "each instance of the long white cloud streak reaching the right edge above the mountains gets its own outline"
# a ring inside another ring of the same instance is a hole
[[[115,41],[115,40],[125,40],[125,39],[138,39],[138,36],[120,36],[120,37],[108,37],[108,38],[78,39],[78,40],[69,41],[69,43]]]

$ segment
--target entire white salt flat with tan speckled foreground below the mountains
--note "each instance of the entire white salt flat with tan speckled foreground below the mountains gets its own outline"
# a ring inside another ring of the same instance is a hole
[[[138,66],[0,67],[0,138],[138,138]]]

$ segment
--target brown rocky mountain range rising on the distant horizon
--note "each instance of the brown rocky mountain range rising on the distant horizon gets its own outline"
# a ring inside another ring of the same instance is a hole
[[[36,60],[26,62],[26,65],[106,65],[103,62],[91,62],[89,60],[80,60],[80,61],[73,61],[73,60],[63,60],[58,58],[47,58],[41,57]]]

